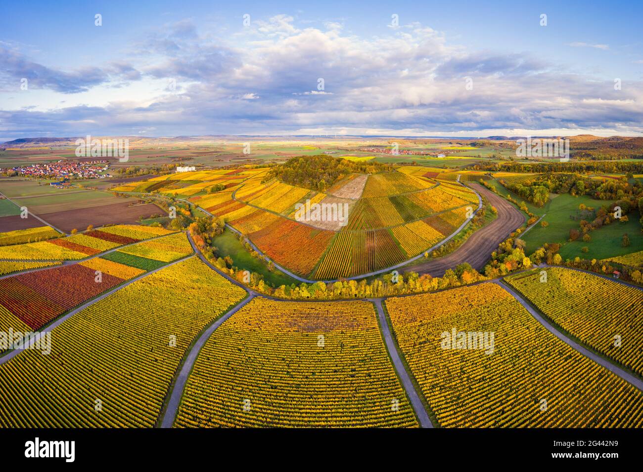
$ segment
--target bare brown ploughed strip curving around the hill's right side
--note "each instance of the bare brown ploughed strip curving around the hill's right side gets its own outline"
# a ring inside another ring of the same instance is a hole
[[[473,236],[448,256],[404,267],[404,272],[413,271],[418,274],[442,277],[448,268],[455,268],[463,262],[468,262],[471,267],[481,270],[489,260],[491,252],[498,249],[498,244],[507,239],[507,236],[512,231],[525,222],[523,213],[505,198],[499,197],[480,184],[470,185],[498,209],[498,218],[484,228],[474,232]]]

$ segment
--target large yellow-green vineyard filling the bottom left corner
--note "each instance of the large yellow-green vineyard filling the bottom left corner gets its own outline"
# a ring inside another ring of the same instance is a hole
[[[154,426],[194,337],[244,295],[197,258],[122,288],[60,324],[51,354],[0,365],[0,426]]]

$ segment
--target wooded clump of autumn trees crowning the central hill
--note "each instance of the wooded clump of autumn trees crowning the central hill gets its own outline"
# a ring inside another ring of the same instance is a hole
[[[353,162],[326,154],[293,157],[273,166],[264,182],[275,177],[286,184],[324,191],[352,173],[376,173],[391,167],[378,162]]]

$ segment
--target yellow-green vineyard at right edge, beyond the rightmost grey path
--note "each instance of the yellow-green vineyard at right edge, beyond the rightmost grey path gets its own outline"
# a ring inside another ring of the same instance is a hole
[[[543,271],[547,279],[543,279]],[[516,274],[506,280],[557,326],[643,374],[641,290],[561,267]]]

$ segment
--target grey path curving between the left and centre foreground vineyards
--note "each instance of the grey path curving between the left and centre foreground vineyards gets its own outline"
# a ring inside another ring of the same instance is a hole
[[[230,310],[228,310],[226,313],[224,313],[219,318],[217,318],[210,326],[208,326],[208,328],[205,331],[203,331],[201,336],[199,336],[197,340],[194,342],[194,345],[185,356],[185,361],[181,366],[181,370],[176,376],[176,379],[174,381],[174,388],[172,388],[172,391],[168,393],[169,400],[167,403],[167,408],[165,409],[165,414],[163,415],[163,421],[161,421],[161,428],[172,428],[172,425],[176,420],[176,415],[179,412],[181,399],[183,399],[185,384],[187,383],[188,378],[192,373],[192,369],[194,369],[194,364],[197,358],[199,357],[199,354],[201,353],[201,349],[203,349],[203,346],[206,344],[206,342],[208,342],[208,340],[210,339],[214,331],[216,331],[217,328],[219,328],[219,326],[221,326],[224,321],[226,321],[232,315],[237,313],[237,311],[239,311],[241,308],[246,306],[246,304],[248,304],[248,302],[254,298],[255,298],[255,295],[253,293],[248,293],[248,295],[246,295],[246,298],[244,300],[240,301],[235,306],[230,308]],[[166,399],[167,399],[167,396],[166,396]]]

